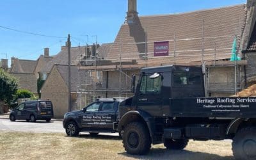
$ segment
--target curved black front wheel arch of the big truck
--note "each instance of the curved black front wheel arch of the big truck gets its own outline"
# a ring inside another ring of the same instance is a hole
[[[120,122],[118,123],[117,131],[121,132],[124,129],[124,126],[129,124],[130,122],[142,122],[145,124],[148,128],[148,132],[150,134],[150,137],[152,137],[152,123],[150,123],[151,116],[147,113],[140,113],[139,111],[129,111],[125,113],[122,118],[120,119]]]

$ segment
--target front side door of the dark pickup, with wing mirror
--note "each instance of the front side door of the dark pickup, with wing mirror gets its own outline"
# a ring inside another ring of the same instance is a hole
[[[100,102],[94,102],[84,109],[83,113],[79,115],[81,125],[83,128],[99,127],[100,118],[99,114]]]

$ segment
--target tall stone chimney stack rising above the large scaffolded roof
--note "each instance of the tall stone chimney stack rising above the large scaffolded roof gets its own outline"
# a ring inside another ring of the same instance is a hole
[[[137,12],[137,0],[128,0],[128,11],[126,21],[128,24],[134,23],[136,18],[138,17]]]

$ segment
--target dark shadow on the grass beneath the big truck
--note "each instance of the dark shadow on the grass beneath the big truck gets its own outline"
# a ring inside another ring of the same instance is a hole
[[[233,156],[219,156],[217,154],[209,154],[204,152],[191,152],[189,150],[167,150],[165,148],[151,148],[148,154],[143,156],[131,155],[126,152],[118,153],[125,157],[136,159],[189,159],[189,160],[205,160],[205,159],[220,159],[230,160]]]

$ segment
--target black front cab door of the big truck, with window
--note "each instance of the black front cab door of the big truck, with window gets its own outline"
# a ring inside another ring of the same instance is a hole
[[[161,86],[160,74],[143,75],[137,95],[138,109],[147,111],[152,116],[161,116],[163,113]]]

